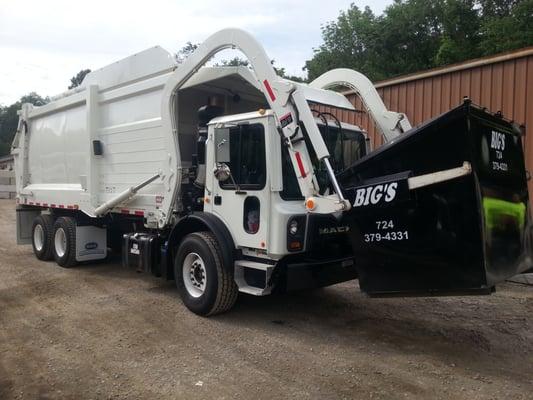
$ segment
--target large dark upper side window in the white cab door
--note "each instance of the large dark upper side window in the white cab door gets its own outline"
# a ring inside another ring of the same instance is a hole
[[[261,190],[266,183],[265,129],[262,124],[239,125],[230,129],[230,162],[235,183],[241,189]],[[222,189],[235,189],[231,180]]]

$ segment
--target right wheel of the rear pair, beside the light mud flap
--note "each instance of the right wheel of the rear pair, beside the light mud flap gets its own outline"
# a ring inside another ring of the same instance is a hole
[[[52,248],[56,263],[63,268],[70,268],[76,261],[76,220],[72,217],[60,217],[54,224]]]

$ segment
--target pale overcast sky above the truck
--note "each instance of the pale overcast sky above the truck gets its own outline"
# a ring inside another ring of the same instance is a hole
[[[277,66],[303,75],[320,26],[352,2],[380,14],[392,0],[0,0],[0,104],[61,93],[81,69],[154,45],[174,53],[226,27],[250,31]]]

